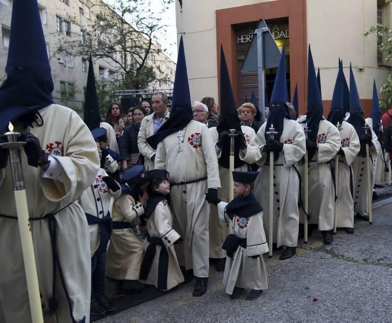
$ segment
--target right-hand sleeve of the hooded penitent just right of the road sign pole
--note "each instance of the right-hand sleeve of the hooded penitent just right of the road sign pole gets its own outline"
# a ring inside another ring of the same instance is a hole
[[[291,167],[297,163],[306,153],[305,133],[302,126],[297,122],[294,125],[293,142],[283,145],[283,165]]]

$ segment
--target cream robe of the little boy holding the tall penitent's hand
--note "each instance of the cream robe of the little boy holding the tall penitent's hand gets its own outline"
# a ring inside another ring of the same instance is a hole
[[[269,281],[263,253],[268,252],[266,234],[263,227],[263,212],[246,218],[246,224],[240,225],[239,218],[234,216],[232,220],[227,217],[225,207],[228,203],[218,204],[218,214],[221,222],[230,224],[231,233],[237,237],[246,238],[246,248],[239,246],[234,257],[226,258],[226,266],[223,274],[223,284],[226,293],[233,294],[234,287],[255,290],[269,289]],[[260,257],[252,259],[251,256]]]

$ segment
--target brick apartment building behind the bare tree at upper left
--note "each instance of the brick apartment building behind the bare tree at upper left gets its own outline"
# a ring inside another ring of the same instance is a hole
[[[87,83],[88,57],[74,56],[67,51],[59,50],[59,39],[69,40],[78,37],[86,38],[93,33],[89,25],[96,19],[98,9],[102,5],[100,0],[38,0],[41,21],[47,42],[49,63],[51,66],[54,91],[53,99],[56,103],[67,105],[76,111],[81,111],[84,102],[83,87]],[[109,10],[109,8],[107,9]],[[9,46],[11,25],[12,0],[0,0],[0,78],[5,78],[5,66]],[[73,24],[67,17],[73,17],[78,23]],[[28,27],[28,26],[26,26]],[[69,38],[68,38],[69,37]],[[157,42],[154,48],[160,48]],[[94,59],[94,74],[99,80],[112,82],[118,77],[118,66],[110,59]],[[148,64],[156,67],[156,73],[165,75],[168,81],[149,85],[150,89],[172,88],[174,81],[175,63],[164,52],[154,53],[149,56]],[[159,69],[157,67],[160,67]],[[126,110],[129,107],[123,107]]]

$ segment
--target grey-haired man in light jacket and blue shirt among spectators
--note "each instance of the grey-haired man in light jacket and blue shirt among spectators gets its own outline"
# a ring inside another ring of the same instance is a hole
[[[167,109],[168,96],[165,93],[156,92],[152,96],[151,102],[154,113],[143,119],[138,135],[138,147],[140,153],[144,156],[144,165],[147,171],[154,169],[155,161],[155,149],[152,149],[147,144],[147,138],[155,134],[170,116],[170,112]]]

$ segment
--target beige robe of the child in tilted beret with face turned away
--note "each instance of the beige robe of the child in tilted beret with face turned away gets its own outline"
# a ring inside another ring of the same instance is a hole
[[[133,222],[144,214],[144,207],[129,194],[122,194],[113,203],[113,221]],[[131,228],[113,230],[106,255],[106,275],[114,279],[139,279],[143,248]]]

